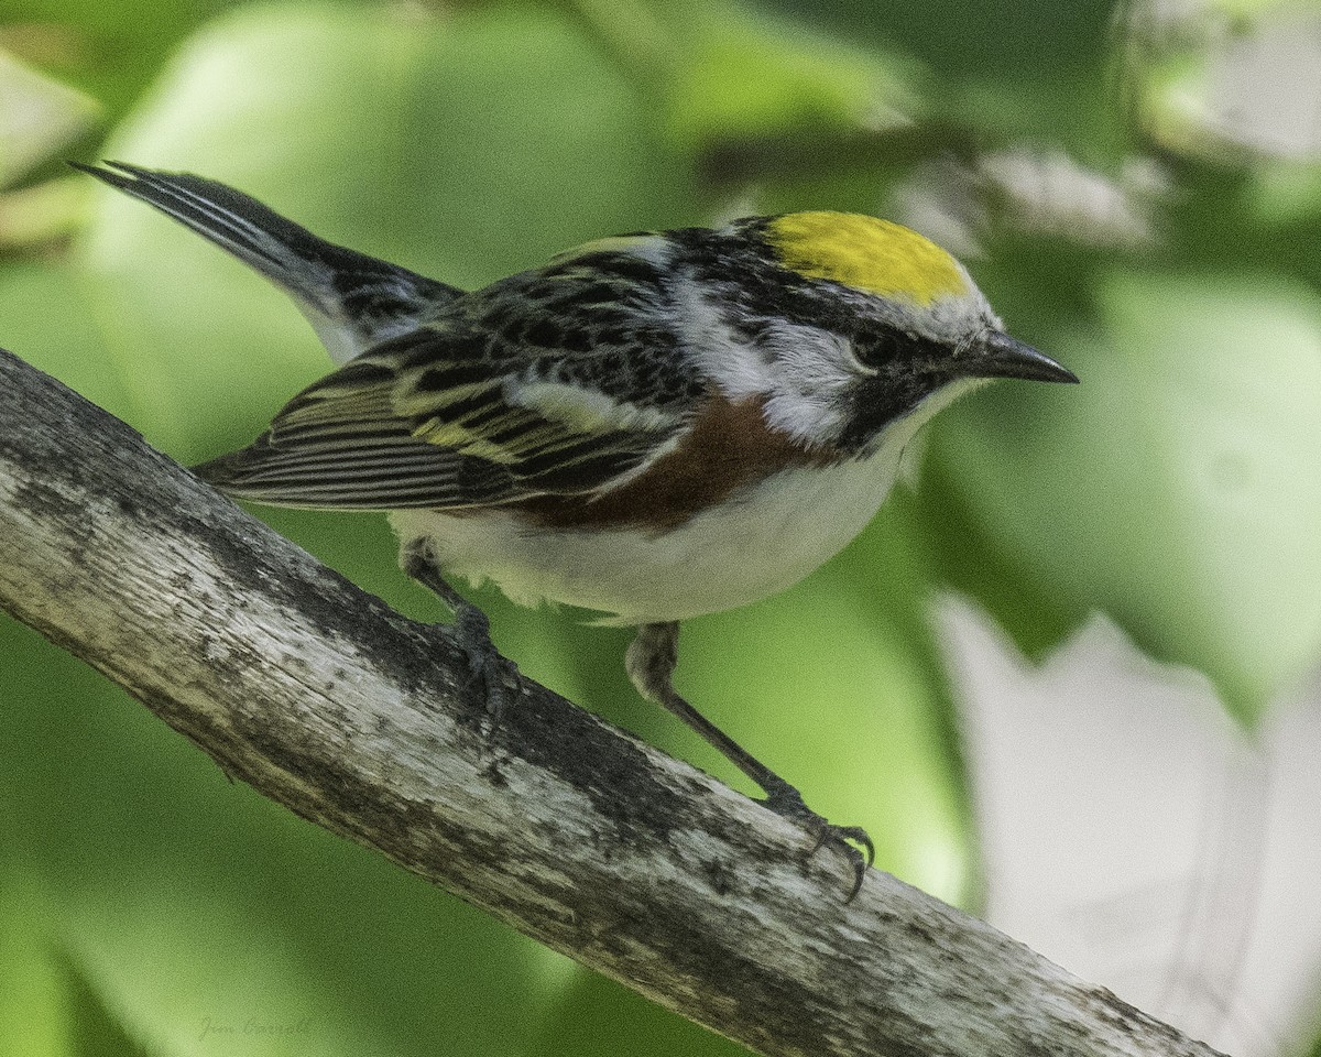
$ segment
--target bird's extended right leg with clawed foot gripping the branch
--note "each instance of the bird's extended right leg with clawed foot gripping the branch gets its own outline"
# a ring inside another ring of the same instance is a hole
[[[740,747],[729,735],[703,716],[674,688],[674,667],[679,661],[679,625],[643,624],[629,646],[626,665],[629,678],[647,700],[663,706],[719,749],[729,762],[752,778],[766,793],[766,806],[778,815],[797,822],[816,838],[812,851],[831,844],[853,867],[853,887],[848,900],[863,887],[863,875],[876,857],[876,848],[867,831],[859,826],[832,826],[806,803],[802,794],[775,772]],[[860,844],[864,856],[852,843]]]

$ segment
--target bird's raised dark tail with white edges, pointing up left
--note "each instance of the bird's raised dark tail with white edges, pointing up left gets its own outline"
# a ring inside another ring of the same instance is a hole
[[[70,164],[141,198],[259,271],[297,303],[337,363],[411,330],[462,295],[456,287],[320,239],[215,180],[122,161]]]

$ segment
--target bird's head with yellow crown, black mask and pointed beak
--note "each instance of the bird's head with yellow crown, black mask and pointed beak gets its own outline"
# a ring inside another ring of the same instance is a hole
[[[967,270],[901,225],[754,217],[708,247],[695,272],[725,353],[715,362],[708,345],[707,366],[731,395],[764,396],[771,424],[801,440],[865,452],[980,382],[1078,381],[1004,333]]]

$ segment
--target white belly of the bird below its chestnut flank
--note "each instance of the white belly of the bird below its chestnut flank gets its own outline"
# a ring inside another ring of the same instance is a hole
[[[594,609],[605,624],[686,620],[783,591],[839,552],[885,499],[896,462],[785,470],[658,535],[536,528],[502,510],[391,521],[403,543],[425,539],[446,571],[493,580],[515,602]]]

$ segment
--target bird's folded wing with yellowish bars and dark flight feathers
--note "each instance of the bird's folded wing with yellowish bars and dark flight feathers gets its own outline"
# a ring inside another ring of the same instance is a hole
[[[196,472],[276,506],[480,507],[606,490],[687,429],[682,402],[600,390],[589,350],[576,381],[572,359],[502,350],[464,326],[437,322],[363,354],[289,402],[256,443]]]

